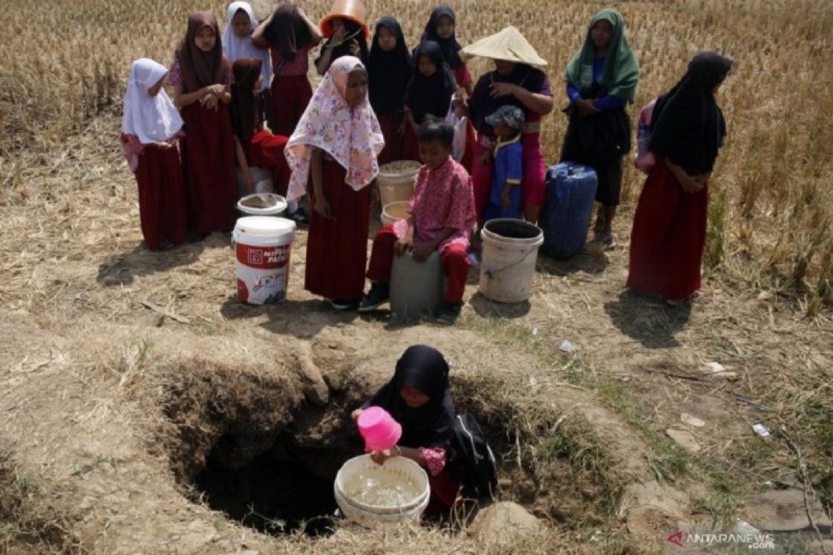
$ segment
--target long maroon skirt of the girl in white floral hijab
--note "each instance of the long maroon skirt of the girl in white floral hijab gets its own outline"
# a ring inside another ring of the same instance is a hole
[[[312,211],[304,289],[326,299],[356,300],[364,291],[370,187],[353,190],[344,182],[344,168],[327,156],[323,166],[322,186],[332,218]],[[312,186],[309,193],[314,207]]]

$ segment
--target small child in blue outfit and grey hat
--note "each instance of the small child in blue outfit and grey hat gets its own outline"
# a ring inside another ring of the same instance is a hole
[[[523,110],[515,106],[501,106],[486,116],[486,123],[495,131],[495,171],[491,178],[491,196],[486,205],[485,218],[515,218],[520,220],[521,180],[523,179],[523,146],[521,127]]]

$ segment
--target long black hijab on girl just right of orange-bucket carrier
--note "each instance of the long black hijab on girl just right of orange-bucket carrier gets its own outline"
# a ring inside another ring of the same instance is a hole
[[[391,52],[379,47],[379,29],[385,27],[396,37]],[[393,17],[382,17],[376,24],[370,54],[367,57],[367,81],[370,105],[377,114],[398,114],[405,104],[405,90],[413,76],[413,60],[405,44],[402,27]]]

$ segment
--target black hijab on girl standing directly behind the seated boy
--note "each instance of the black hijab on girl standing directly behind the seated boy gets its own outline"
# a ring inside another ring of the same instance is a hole
[[[419,57],[431,58],[436,66],[436,73],[426,77],[419,71]],[[414,49],[414,74],[405,92],[405,103],[411,108],[417,124],[425,121],[428,114],[444,118],[451,107],[451,96],[457,86],[451,69],[442,57],[440,45],[433,41],[421,42]]]

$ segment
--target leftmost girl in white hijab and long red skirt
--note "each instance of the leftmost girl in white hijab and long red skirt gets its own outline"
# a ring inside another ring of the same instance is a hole
[[[139,187],[139,221],[148,249],[185,242],[185,188],[177,151],[182,118],[162,89],[167,69],[133,62],[122,117],[122,152]]]

